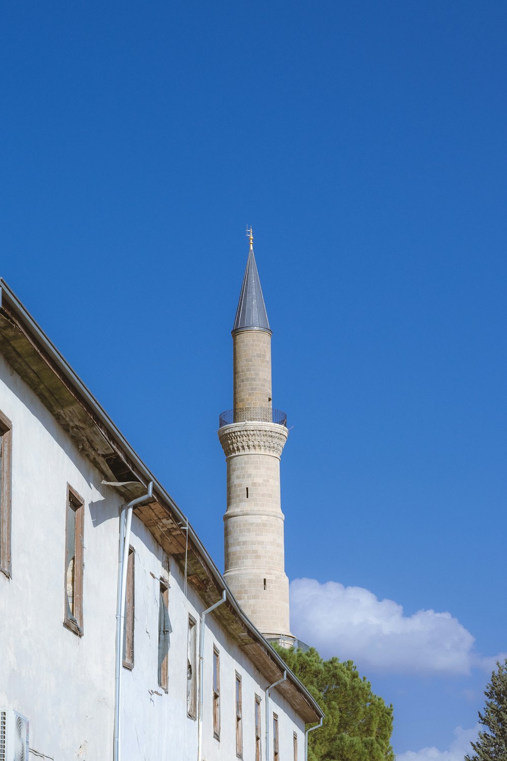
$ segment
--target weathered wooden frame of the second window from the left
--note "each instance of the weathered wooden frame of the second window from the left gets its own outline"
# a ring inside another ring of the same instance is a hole
[[[68,546],[68,511],[74,511],[74,590],[72,611],[67,595],[67,546]],[[84,549],[84,499],[67,484],[67,501],[65,503],[65,575],[64,575],[64,619],[63,625],[79,637],[83,636],[83,549]]]

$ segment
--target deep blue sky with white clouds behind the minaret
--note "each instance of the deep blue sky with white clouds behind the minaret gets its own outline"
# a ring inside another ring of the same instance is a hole
[[[462,758],[507,651],[506,27],[412,0],[0,17],[1,274],[220,567],[252,224],[293,629],[393,702],[401,761]]]

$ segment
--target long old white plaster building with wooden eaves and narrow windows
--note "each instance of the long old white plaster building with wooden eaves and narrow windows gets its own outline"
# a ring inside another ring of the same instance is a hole
[[[284,677],[283,661],[170,495],[5,282],[0,289],[0,759],[28,761],[2,750],[12,711],[30,721],[30,759],[113,758],[120,515],[152,482],[128,540],[116,757],[303,761],[320,708],[287,672],[271,690],[266,746],[265,690]]]

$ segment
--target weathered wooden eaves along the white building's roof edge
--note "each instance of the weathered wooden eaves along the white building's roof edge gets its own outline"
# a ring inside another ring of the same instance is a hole
[[[135,510],[135,514],[182,569],[188,526],[189,584],[205,607],[216,603],[223,590],[227,591],[227,602],[217,607],[213,615],[268,683],[281,679],[287,669],[284,661],[242,612],[185,515],[3,279],[0,279],[0,352],[106,481],[131,482],[115,487],[125,501],[138,497],[153,481],[154,501]],[[290,670],[287,669],[287,680],[277,689],[307,724],[320,721],[321,708]]]

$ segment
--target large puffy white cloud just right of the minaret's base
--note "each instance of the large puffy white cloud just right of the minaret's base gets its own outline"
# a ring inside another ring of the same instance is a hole
[[[361,670],[469,673],[477,658],[474,637],[451,613],[419,610],[404,616],[394,600],[378,600],[362,587],[296,579],[290,612],[291,629],[303,642],[324,658],[356,661]]]

